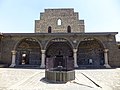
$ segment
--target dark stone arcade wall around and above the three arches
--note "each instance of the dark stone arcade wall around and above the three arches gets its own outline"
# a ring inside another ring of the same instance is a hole
[[[72,46],[72,48],[78,48],[78,45],[81,41],[84,41],[86,38],[94,38],[101,42],[104,48],[109,49],[108,51],[108,59],[109,64],[113,67],[120,66],[120,49],[118,49],[115,35],[109,36],[109,33],[70,33],[70,34],[40,34],[40,33],[27,33],[27,34],[3,34],[3,38],[1,39],[1,59],[0,62],[11,64],[11,51],[16,50],[17,44],[25,39],[25,38],[33,38],[38,41],[40,44],[41,50],[46,50],[47,44],[50,40],[55,38],[64,38],[68,40]]]

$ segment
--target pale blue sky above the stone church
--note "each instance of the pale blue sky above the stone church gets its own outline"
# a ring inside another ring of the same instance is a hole
[[[33,33],[48,8],[74,8],[86,32],[118,32],[120,41],[120,0],[0,0],[0,32]]]

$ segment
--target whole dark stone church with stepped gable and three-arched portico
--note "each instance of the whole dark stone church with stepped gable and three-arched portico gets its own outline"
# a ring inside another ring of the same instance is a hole
[[[35,20],[34,33],[0,34],[0,65],[45,68],[46,58],[62,55],[73,57],[75,68],[119,67],[116,34],[85,32],[73,8],[45,9]]]

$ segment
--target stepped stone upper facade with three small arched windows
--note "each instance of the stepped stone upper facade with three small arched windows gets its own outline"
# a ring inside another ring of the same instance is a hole
[[[40,20],[35,20],[35,33],[80,33],[84,32],[84,20],[79,20],[74,9],[45,9]]]

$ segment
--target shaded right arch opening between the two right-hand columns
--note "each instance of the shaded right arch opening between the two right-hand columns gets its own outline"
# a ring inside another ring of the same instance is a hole
[[[99,40],[93,38],[85,38],[78,45],[78,66],[103,66],[104,48],[104,45]]]

